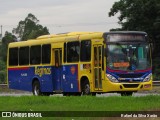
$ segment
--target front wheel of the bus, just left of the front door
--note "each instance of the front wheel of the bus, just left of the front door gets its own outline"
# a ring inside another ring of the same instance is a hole
[[[82,95],[91,95],[89,83],[85,81],[82,85]]]

